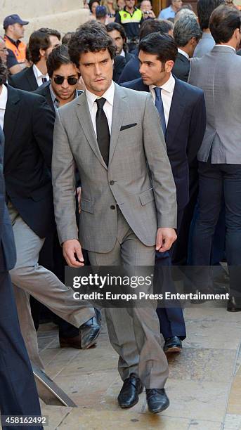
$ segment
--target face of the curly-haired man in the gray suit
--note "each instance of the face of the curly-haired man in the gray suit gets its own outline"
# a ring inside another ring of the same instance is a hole
[[[113,75],[112,59],[108,49],[82,53],[79,58],[79,72],[86,89],[96,96],[103,96],[111,85]]]

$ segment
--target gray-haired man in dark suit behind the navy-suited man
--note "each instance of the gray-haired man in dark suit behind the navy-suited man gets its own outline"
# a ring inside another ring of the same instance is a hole
[[[178,46],[178,55],[172,73],[181,81],[188,82],[190,58],[202,37],[200,25],[195,16],[184,15],[174,26],[174,41]]]

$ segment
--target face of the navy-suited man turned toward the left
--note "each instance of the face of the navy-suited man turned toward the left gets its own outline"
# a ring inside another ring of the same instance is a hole
[[[171,72],[171,64],[173,61],[167,61],[162,65],[160,60],[157,60],[157,55],[140,51],[138,58],[140,60],[140,73],[145,85],[161,86],[169,78]],[[169,64],[170,63],[170,64]]]

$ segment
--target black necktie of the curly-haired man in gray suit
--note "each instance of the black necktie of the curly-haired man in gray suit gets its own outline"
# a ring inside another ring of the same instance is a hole
[[[110,149],[110,131],[108,120],[105,116],[103,107],[105,105],[105,98],[96,98],[98,110],[96,112],[96,135],[97,142],[100,148],[101,155],[105,164],[108,166],[109,162],[109,149]]]

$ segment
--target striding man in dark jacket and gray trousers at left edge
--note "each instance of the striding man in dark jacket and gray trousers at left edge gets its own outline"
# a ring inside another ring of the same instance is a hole
[[[77,303],[69,287],[37,264],[45,238],[56,228],[50,175],[53,112],[37,94],[11,86],[3,86],[3,94],[6,195],[17,249],[11,279],[27,351],[34,364],[44,367],[39,358],[29,294],[79,328],[82,348],[95,343],[100,326],[93,308],[86,302]]]

